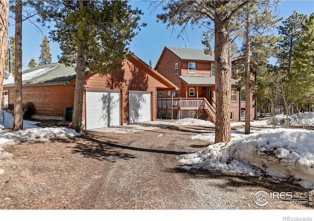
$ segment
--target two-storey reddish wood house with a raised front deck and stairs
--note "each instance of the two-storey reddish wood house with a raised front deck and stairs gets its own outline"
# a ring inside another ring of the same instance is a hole
[[[245,87],[237,87],[237,69],[234,65],[238,54],[232,56],[230,73],[232,121],[245,117]],[[214,55],[206,55],[204,50],[165,47],[155,69],[174,83],[179,90],[158,92],[158,114],[175,119],[200,118],[215,123],[215,65]],[[255,74],[252,73],[252,79]],[[250,116],[255,117],[255,98],[250,96]],[[171,105],[172,102],[172,105]]]

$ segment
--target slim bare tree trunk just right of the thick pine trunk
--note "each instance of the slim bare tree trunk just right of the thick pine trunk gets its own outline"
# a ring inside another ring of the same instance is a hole
[[[251,52],[251,41],[250,41],[250,14],[246,14],[246,33],[245,33],[245,130],[244,134],[250,134],[250,81],[251,81],[251,70],[250,70],[250,52]]]

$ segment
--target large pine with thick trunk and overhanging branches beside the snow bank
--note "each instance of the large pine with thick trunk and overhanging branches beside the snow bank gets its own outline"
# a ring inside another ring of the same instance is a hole
[[[161,1],[155,7],[162,6],[163,11],[157,16],[159,20],[167,23],[168,28],[179,26],[179,35],[185,33],[185,28],[190,24],[207,28],[204,36],[208,39],[203,44],[208,47],[206,52],[210,53],[209,40],[214,38],[215,55],[215,84],[216,86],[216,126],[215,142],[227,142],[231,139],[230,127],[230,73],[231,73],[231,34],[235,30],[235,17],[243,14],[240,11],[252,1],[247,0],[196,0],[196,1]],[[258,1],[263,4],[267,1]],[[262,21],[259,21],[262,23]],[[209,28],[213,23],[213,28]],[[213,29],[213,31],[212,31]],[[213,33],[213,35],[212,35]]]

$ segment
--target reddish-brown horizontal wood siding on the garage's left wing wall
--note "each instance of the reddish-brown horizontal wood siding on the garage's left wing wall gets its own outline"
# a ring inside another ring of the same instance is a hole
[[[74,87],[74,85],[69,85]],[[7,87],[9,104],[14,103],[14,87]],[[34,115],[64,117],[65,108],[74,104],[74,90],[64,84],[23,86],[22,104],[33,103]]]

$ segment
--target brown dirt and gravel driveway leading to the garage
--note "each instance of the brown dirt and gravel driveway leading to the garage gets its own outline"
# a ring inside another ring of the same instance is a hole
[[[181,169],[181,154],[210,143],[213,131],[171,126],[130,134],[87,132],[79,138],[5,147],[1,209],[313,209],[253,201],[257,191],[306,192],[269,178]]]

